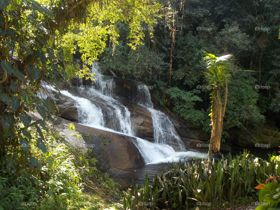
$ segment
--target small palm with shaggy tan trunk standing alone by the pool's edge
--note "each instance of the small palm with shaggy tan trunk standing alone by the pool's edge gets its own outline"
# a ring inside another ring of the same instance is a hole
[[[225,115],[225,108],[227,105],[227,83],[230,81],[229,67],[226,61],[233,58],[233,55],[224,55],[216,57],[210,53],[206,53],[203,58],[207,64],[207,72],[204,72],[206,80],[211,87],[211,139],[209,144],[209,151],[207,160],[210,162],[212,151],[220,150],[221,136],[223,131],[223,118]],[[224,103],[222,102],[221,93],[225,91]]]

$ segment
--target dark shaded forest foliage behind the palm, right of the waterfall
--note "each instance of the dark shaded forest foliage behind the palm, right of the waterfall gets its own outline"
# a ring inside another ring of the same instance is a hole
[[[125,47],[125,36],[120,36],[122,42],[117,54],[108,53],[112,51],[109,47],[101,56],[104,70],[111,69],[118,76],[153,85],[156,90],[152,93],[159,105],[173,109],[178,116],[209,131],[207,115],[211,100],[207,99],[210,90],[203,74],[206,68],[203,51],[216,56],[232,54],[236,59],[230,67],[232,80],[228,84],[223,137],[227,137],[230,128],[253,129],[263,122],[279,127],[279,2],[161,2],[170,13],[158,19],[153,29],[144,27],[147,50],[135,53]],[[172,12],[176,33],[171,86],[168,87],[170,69],[162,66],[158,71],[158,64],[170,64]],[[119,28],[121,30],[122,25]],[[152,38],[151,30],[154,30]],[[153,57],[150,57],[151,51]],[[129,57],[130,54],[135,56]]]

